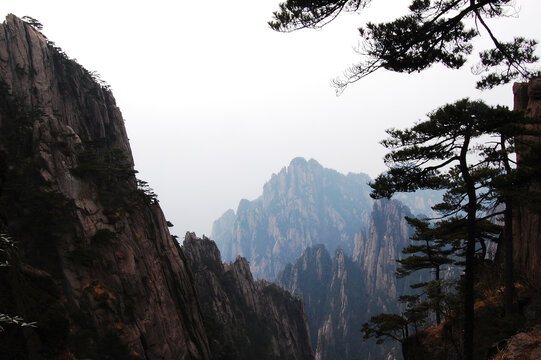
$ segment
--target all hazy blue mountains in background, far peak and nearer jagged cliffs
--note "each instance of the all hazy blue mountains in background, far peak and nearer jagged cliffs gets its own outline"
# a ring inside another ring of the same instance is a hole
[[[392,344],[363,342],[359,330],[373,315],[398,311],[408,284],[428,276],[397,280],[396,259],[411,235],[404,217],[431,215],[441,196],[376,201],[369,181],[296,158],[261,197],[241,200],[213,225],[224,260],[246,257],[255,276],[303,298],[317,360],[400,358]]]

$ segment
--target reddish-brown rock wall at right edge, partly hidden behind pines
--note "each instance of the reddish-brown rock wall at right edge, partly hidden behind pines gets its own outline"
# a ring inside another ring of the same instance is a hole
[[[541,116],[541,79],[515,84],[513,92],[515,94],[515,110],[524,111],[527,116],[531,117]],[[529,140],[534,144],[541,144],[539,137],[531,137]],[[520,156],[527,151],[530,149],[517,147],[519,167],[521,166]],[[539,150],[537,149],[537,151]],[[528,190],[541,192],[541,183],[534,182]],[[516,206],[513,209],[513,215],[515,269],[532,285],[541,287],[541,271],[539,271],[541,267],[541,216],[524,205]]]

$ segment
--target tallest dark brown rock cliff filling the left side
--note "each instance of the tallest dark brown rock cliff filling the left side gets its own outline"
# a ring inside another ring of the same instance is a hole
[[[138,187],[106,86],[13,15],[0,25],[0,269],[10,359],[210,359],[186,261]]]

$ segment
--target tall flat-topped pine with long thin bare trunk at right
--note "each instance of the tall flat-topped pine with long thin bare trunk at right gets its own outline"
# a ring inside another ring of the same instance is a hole
[[[435,231],[453,244],[455,256],[465,258],[464,263],[457,262],[465,266],[465,359],[473,351],[475,267],[485,258],[487,241],[495,241],[502,231],[489,219],[509,216],[495,209],[511,191],[503,184],[520,174],[509,163],[515,136],[534,131],[525,124],[521,114],[479,101],[443,106],[410,129],[387,131],[390,137],[382,144],[391,149],[385,156],[389,170],[371,184],[376,198],[390,198],[399,191],[445,190],[443,201],[433,207],[441,216]],[[423,237],[430,235],[424,232]]]

